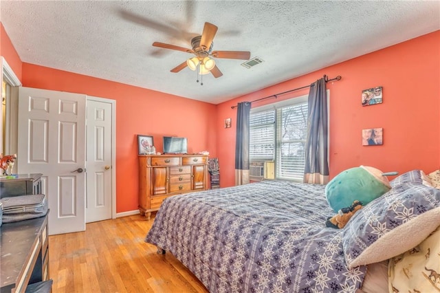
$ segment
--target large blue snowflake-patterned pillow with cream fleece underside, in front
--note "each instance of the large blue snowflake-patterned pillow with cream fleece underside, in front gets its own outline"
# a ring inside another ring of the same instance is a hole
[[[417,246],[440,226],[440,190],[403,183],[358,210],[343,232],[349,268],[384,261]]]

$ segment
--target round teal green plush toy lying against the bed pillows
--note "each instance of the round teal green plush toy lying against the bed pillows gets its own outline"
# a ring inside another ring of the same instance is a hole
[[[360,166],[342,171],[325,186],[325,196],[335,213],[347,208],[355,200],[365,206],[391,189],[382,172],[373,167]]]

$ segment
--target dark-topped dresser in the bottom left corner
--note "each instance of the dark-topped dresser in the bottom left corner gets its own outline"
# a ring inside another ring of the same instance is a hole
[[[6,223],[0,228],[0,292],[25,292],[49,279],[47,215]]]

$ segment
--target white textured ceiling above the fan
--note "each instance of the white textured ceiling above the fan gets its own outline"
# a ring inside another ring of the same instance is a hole
[[[218,104],[440,29],[440,1],[1,1],[0,21],[21,61]],[[213,50],[250,51],[263,63],[216,59],[220,78],[188,67],[208,21]],[[332,76],[330,76],[332,77]]]

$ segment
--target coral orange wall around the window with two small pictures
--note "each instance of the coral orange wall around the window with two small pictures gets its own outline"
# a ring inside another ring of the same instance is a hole
[[[313,83],[324,74],[342,80],[327,84],[330,91],[330,177],[361,164],[382,171],[404,173],[440,168],[440,31],[383,50],[293,78],[285,83],[241,96],[219,105],[217,140],[221,186],[234,185],[236,109],[244,100],[256,100]],[[382,86],[384,102],[362,107],[361,91]],[[256,102],[258,107],[308,94],[294,91],[277,100]],[[233,127],[223,129],[225,118]],[[361,130],[383,127],[382,146],[362,146]]]

